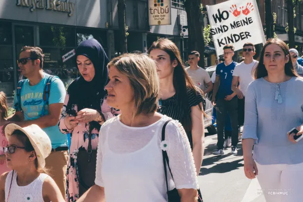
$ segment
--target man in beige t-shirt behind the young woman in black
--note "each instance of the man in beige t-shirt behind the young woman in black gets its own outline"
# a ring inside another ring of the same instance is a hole
[[[196,51],[192,51],[188,54],[189,67],[186,68],[188,75],[192,82],[198,86],[206,94],[213,89],[213,83],[209,73],[198,66],[200,60],[200,54]]]

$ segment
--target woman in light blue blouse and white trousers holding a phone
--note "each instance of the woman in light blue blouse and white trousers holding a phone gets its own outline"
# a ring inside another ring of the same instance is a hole
[[[303,140],[288,133],[294,127],[303,132],[303,80],[282,40],[266,42],[255,79],[245,97],[245,176],[257,176],[267,202],[303,201]]]

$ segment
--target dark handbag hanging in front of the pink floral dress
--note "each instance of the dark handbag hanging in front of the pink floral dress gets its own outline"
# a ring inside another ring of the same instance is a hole
[[[93,124],[90,124],[87,151],[85,148],[80,148],[77,156],[76,168],[78,169],[76,170],[76,173],[79,182],[79,197],[94,185],[96,176],[97,150],[92,150],[91,148],[92,129]]]

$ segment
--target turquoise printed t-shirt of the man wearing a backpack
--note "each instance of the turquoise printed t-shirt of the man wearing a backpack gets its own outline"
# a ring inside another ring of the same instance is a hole
[[[29,85],[28,79],[24,81],[20,101],[25,121],[34,120],[41,116],[44,103],[43,91],[48,76],[49,75],[44,73],[41,81],[34,86]],[[63,82],[58,77],[54,77],[51,83],[51,90],[49,91],[48,104],[64,103],[65,95],[66,90]],[[17,93],[15,93],[14,97],[14,106],[16,103],[18,103]],[[44,109],[44,115],[48,115],[48,105],[46,105]],[[67,136],[61,133],[58,125],[43,128],[42,130],[48,135],[49,139],[51,139],[52,148],[68,145]]]

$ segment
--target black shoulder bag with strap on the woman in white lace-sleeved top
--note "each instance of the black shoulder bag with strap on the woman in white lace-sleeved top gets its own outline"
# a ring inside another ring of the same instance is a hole
[[[162,139],[161,139],[161,141],[165,140],[165,128],[166,128],[166,125],[170,121],[171,120],[166,121],[165,124],[163,125],[163,128],[162,128]],[[166,164],[168,166],[169,172],[170,172],[173,180],[174,180],[174,177],[173,177],[172,171],[170,169],[168,155],[167,155],[167,152],[165,150],[162,150],[162,156],[163,156],[163,166],[164,166],[164,174],[165,174],[165,181],[166,181],[166,189],[167,189],[168,202],[180,202],[181,198],[180,198],[180,195],[179,195],[179,192],[178,192],[177,188],[174,188],[173,190],[170,190],[170,191],[168,189]],[[201,196],[201,192],[200,192],[199,189],[198,189],[198,202],[203,202],[203,199],[202,199],[202,196]]]

